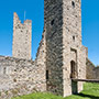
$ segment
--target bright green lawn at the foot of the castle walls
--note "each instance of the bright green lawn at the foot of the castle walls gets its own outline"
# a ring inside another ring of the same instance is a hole
[[[66,98],[54,96],[52,94],[37,92],[12,99],[99,99],[99,84],[85,84],[84,91],[81,91],[79,95],[73,95]]]

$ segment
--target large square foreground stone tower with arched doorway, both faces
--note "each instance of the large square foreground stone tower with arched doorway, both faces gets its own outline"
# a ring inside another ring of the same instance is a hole
[[[80,8],[80,0],[44,0],[46,88],[64,97],[82,90],[72,78],[86,78]]]

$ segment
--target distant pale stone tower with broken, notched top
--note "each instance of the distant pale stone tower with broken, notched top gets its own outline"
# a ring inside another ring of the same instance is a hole
[[[32,21],[26,20],[22,24],[16,13],[13,18],[13,47],[12,56],[31,59]]]

